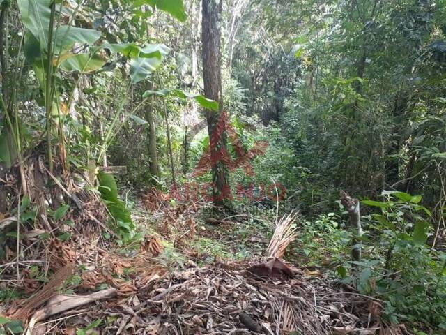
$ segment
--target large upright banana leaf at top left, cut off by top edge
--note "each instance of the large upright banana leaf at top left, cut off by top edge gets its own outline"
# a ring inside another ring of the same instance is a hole
[[[52,0],[17,0],[22,23],[38,40],[40,50],[46,50],[48,46],[51,3]]]

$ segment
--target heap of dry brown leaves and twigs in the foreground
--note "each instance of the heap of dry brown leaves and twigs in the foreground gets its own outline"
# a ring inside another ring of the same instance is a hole
[[[101,334],[378,334],[378,323],[367,324],[366,297],[300,274],[292,281],[255,278],[245,271],[253,266],[191,267],[160,278],[150,292],[137,293],[141,304],[107,309],[105,314],[121,316]]]

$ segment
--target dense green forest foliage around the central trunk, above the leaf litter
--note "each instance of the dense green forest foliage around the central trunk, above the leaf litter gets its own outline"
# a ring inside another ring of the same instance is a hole
[[[36,221],[36,164],[55,176],[53,216],[71,201],[58,180],[82,176],[118,245],[139,241],[123,196],[154,186],[176,205],[219,191],[203,157],[206,119],[224,110],[229,210],[274,216],[277,192],[280,211],[303,216],[290,259],[382,299],[388,322],[446,331],[446,1],[224,0],[217,98],[201,1],[0,4],[0,220],[23,198],[23,223]],[[361,200],[362,237],[341,190]],[[352,240],[360,261],[346,257]]]

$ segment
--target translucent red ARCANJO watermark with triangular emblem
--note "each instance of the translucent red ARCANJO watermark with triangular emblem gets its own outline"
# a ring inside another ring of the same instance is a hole
[[[227,140],[231,142],[235,158],[231,158],[226,146],[220,145],[223,136],[226,136]],[[254,143],[252,149],[245,149],[242,141],[236,133],[236,129],[229,122],[228,114],[222,112],[220,119],[210,136],[209,146],[201,155],[199,163],[192,172],[192,177],[200,177],[203,174],[206,174],[206,172],[212,170],[217,164],[228,172],[233,172],[237,168],[243,168],[247,176],[255,177],[254,168],[252,167],[251,162],[256,156],[265,154],[267,147],[267,142],[259,141]],[[201,185],[199,185],[195,181],[190,181],[185,183],[184,189],[181,191],[172,186],[169,198],[179,201],[197,201],[201,198],[210,202],[214,200],[233,200],[231,187],[227,181],[224,181],[217,199],[212,195],[213,188],[215,188],[215,184],[212,182],[201,183]],[[254,187],[253,184],[249,184],[249,186],[236,185],[237,200],[242,200],[243,198],[248,200],[264,200],[266,198],[277,200],[277,198],[279,198],[279,200],[282,200],[285,198],[285,195],[286,188],[277,182],[272,182],[272,184],[268,186],[260,184],[256,187]]]

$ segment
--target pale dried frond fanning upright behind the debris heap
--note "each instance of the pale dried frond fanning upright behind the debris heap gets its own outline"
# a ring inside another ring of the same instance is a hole
[[[298,218],[298,213],[291,213],[282,216],[277,221],[274,234],[272,235],[270,244],[266,249],[266,255],[268,257],[282,258],[286,248],[289,244],[295,240],[295,220]]]

